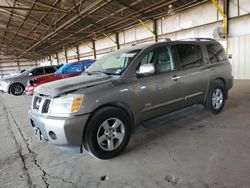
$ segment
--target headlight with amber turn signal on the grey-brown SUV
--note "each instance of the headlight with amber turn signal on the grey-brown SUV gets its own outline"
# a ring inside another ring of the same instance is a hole
[[[55,98],[52,102],[51,114],[70,114],[80,110],[84,95],[68,94]]]

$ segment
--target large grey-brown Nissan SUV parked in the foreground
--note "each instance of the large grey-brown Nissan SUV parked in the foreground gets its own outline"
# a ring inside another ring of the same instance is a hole
[[[212,39],[158,42],[103,56],[77,78],[37,88],[29,111],[36,134],[99,159],[121,153],[143,121],[201,103],[220,113],[231,65]]]

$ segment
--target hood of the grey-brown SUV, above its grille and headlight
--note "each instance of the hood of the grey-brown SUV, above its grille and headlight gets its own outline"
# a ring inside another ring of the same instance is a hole
[[[80,75],[42,84],[35,88],[35,93],[56,97],[74,90],[103,84],[110,80],[109,76]]]

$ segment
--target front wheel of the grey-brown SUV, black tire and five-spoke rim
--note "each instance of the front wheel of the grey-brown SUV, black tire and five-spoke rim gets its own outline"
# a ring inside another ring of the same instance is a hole
[[[116,107],[96,111],[87,127],[84,145],[98,159],[110,159],[120,154],[130,139],[129,118]]]

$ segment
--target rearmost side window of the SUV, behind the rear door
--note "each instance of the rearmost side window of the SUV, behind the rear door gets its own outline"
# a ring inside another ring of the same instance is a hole
[[[222,62],[227,59],[226,53],[220,44],[207,45],[210,63]]]

